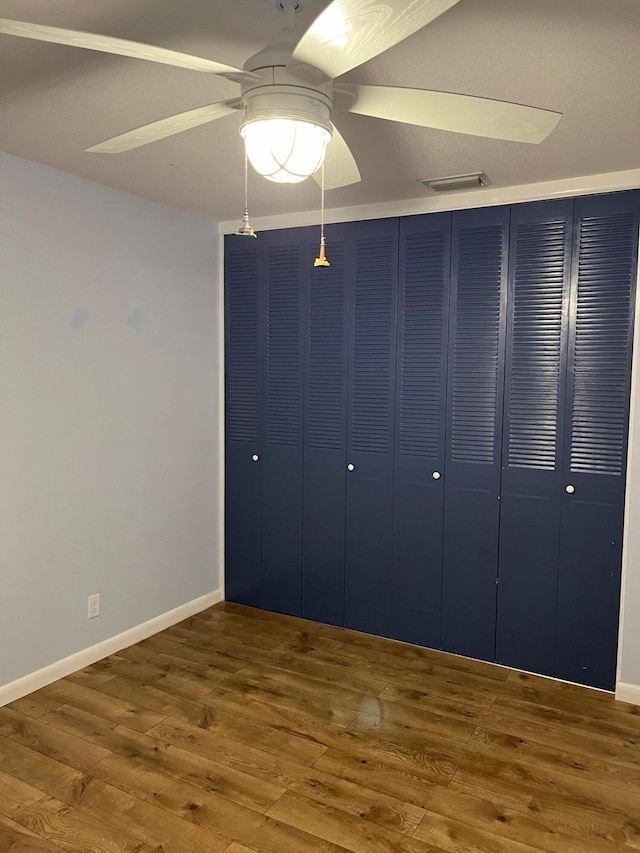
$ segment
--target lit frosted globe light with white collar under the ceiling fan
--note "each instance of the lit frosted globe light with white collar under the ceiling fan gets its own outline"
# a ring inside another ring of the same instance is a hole
[[[249,162],[276,184],[297,184],[322,166],[331,141],[331,100],[301,86],[267,85],[245,92],[240,134]]]

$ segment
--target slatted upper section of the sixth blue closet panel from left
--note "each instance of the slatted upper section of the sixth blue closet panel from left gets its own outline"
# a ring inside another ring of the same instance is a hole
[[[458,244],[451,458],[496,459],[502,228],[463,229]]]

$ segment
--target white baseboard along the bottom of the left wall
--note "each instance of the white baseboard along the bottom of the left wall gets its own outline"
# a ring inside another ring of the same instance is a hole
[[[183,619],[188,619],[208,607],[213,607],[219,601],[223,600],[222,590],[215,589],[213,592],[208,592],[206,595],[201,595],[199,598],[194,598],[192,601],[187,601],[186,604],[181,604],[173,610],[168,610],[166,613],[161,613],[160,616],[155,616],[141,625],[136,625],[134,628],[129,628],[121,634],[116,634],[114,637],[109,637],[96,643],[94,646],[89,646],[87,649],[82,649],[69,657],[55,661],[48,666],[38,669],[35,672],[29,673],[16,681],[9,684],[0,685],[0,708],[3,705],[8,705],[9,702],[15,702],[16,699],[21,699],[34,690],[39,690],[53,681],[58,681],[72,672],[77,672],[85,666],[89,666],[96,661],[113,655],[116,652],[126,649],[128,646],[139,643],[141,640],[146,640],[153,634],[159,631],[164,631],[165,628],[170,628],[181,622]]]

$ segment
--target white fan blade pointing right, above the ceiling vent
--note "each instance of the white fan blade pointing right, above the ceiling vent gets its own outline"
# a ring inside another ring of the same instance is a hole
[[[542,142],[562,118],[562,113],[551,110],[451,92],[392,86],[343,88],[356,95],[349,107],[353,113],[512,142]]]

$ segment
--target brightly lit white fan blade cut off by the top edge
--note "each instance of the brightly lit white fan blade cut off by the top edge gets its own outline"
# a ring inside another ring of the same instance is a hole
[[[293,58],[335,78],[431,23],[459,0],[333,0],[302,36]]]

